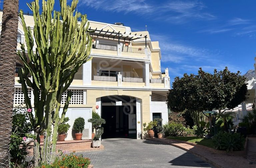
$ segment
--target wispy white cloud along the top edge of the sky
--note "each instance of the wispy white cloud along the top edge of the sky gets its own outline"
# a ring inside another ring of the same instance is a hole
[[[79,4],[96,10],[101,9],[112,12],[135,13],[138,15],[154,15],[156,20],[172,21],[172,23],[186,23],[191,19],[215,19],[210,13],[203,12],[205,6],[198,1],[157,1],[149,3],[146,0],[80,0]]]

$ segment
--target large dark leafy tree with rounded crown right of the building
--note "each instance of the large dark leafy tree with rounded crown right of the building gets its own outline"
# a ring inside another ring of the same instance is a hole
[[[199,68],[198,74],[176,77],[167,95],[167,105],[172,111],[189,110],[194,124],[204,119],[203,111],[230,110],[247,99],[247,79],[241,73],[214,70],[213,74]],[[224,112],[223,111],[223,112]],[[223,113],[222,112],[222,113]],[[212,125],[211,115],[207,116]]]

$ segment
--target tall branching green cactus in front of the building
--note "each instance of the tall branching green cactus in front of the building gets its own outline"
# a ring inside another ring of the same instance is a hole
[[[43,0],[41,15],[39,0],[27,4],[33,11],[33,33],[26,26],[23,11],[19,14],[27,48],[25,52],[25,46],[21,44],[22,52],[18,52],[24,63],[24,69],[19,71],[19,82],[25,95],[26,107],[31,109],[28,87],[33,89],[34,114],[30,113],[30,120],[36,136],[34,156],[37,165],[40,159],[45,163],[53,161],[54,155],[51,153],[56,150],[58,124],[63,122],[72,92],[68,92],[59,117],[62,94],[70,86],[79,67],[92,58],[89,58],[92,46],[87,32],[89,23],[86,15],[75,12],[77,3],[78,0],[73,0],[71,6],[68,6],[67,0],[60,0],[61,11],[53,11],[54,0]],[[32,80],[27,77],[29,74]],[[46,137],[41,150],[39,135],[42,129],[46,129]]]

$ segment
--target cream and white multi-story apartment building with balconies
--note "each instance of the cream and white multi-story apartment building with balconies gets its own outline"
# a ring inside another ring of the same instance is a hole
[[[24,17],[33,33],[33,16]],[[154,118],[162,118],[162,124],[168,122],[166,94],[170,78],[167,68],[161,72],[159,44],[151,41],[148,31],[132,32],[130,27],[121,24],[89,23],[90,30],[94,30],[90,33],[93,58],[83,64],[69,87],[73,96],[66,113],[71,125],[66,139],[73,139],[73,122],[79,116],[86,121],[83,138],[91,138],[91,123],[87,120],[92,117],[92,110],[106,120],[103,138],[140,139],[143,123]],[[19,19],[17,50],[21,50],[20,43],[26,42]],[[16,70],[21,67],[22,61],[17,56]],[[17,82],[18,74],[15,78],[14,104],[17,106],[23,103],[24,96]],[[33,92],[29,93],[33,104]],[[66,96],[63,94],[63,106]]]

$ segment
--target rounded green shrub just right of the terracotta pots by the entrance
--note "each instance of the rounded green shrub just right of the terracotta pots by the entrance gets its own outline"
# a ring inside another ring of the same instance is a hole
[[[163,126],[165,136],[181,136],[184,132],[184,126],[181,123],[170,122]]]

